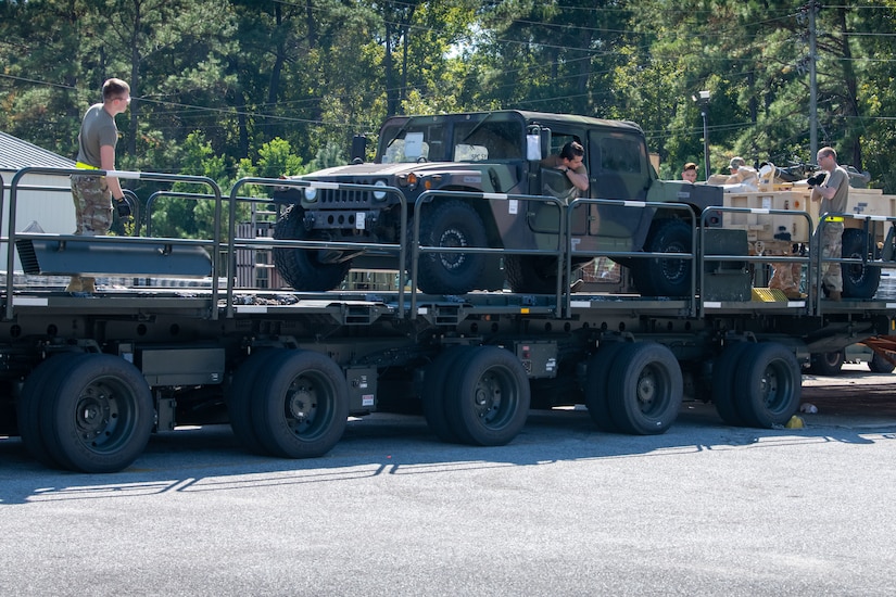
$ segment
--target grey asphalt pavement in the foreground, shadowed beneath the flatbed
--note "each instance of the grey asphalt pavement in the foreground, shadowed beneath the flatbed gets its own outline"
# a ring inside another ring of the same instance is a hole
[[[859,366],[856,366],[859,367]],[[226,425],[153,436],[128,470],[53,471],[0,439],[0,587],[30,595],[894,595],[892,376],[804,380],[803,429],[666,434],[535,411],[512,444],[353,420],[324,458]]]

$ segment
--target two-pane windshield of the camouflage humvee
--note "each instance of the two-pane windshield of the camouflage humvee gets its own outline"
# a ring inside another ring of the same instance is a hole
[[[393,118],[380,131],[379,161],[493,162],[525,156],[525,123],[515,113]]]

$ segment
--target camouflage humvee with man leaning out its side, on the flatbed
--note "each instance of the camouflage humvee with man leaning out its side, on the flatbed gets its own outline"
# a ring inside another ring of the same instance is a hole
[[[692,207],[579,202],[570,224],[571,244],[575,251],[591,255],[573,253],[577,264],[600,251],[690,253],[696,215],[709,205],[722,204],[717,187],[659,180],[644,131],[630,122],[517,110],[393,116],[380,129],[373,163],[356,156],[352,164],[295,177],[324,185],[283,186],[274,193],[275,201],[287,204],[275,226],[275,238],[351,242],[356,249],[277,247],[275,265],[290,285],[308,291],[337,288],[353,263],[356,268],[402,269],[394,254],[377,259],[381,256],[368,245],[409,238],[402,230],[401,198],[395,189],[406,200],[408,223],[415,201],[429,190],[434,192],[428,193],[431,201],[419,206],[420,245],[503,249],[507,251],[504,275],[513,291],[553,293],[556,255],[512,251],[556,250],[560,209],[543,198],[567,203],[576,190],[560,170],[545,168],[541,162],[558,154],[568,141],[578,141],[585,150],[588,198]],[[467,194],[440,196],[440,191]],[[501,201],[482,193],[542,199]],[[494,253],[484,252],[421,253],[417,285],[429,294],[493,289],[492,274],[497,269],[490,265],[493,258]],[[623,256],[617,261],[631,269],[641,294],[681,296],[690,292],[690,264],[684,259]],[[497,284],[504,284],[503,276]]]

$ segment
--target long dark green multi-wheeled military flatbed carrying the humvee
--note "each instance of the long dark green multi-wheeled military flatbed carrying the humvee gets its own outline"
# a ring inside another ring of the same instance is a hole
[[[232,215],[239,183],[229,198],[204,183],[218,217],[227,207]],[[15,180],[11,190],[12,208]],[[575,203],[560,214],[573,213]],[[808,268],[805,300],[753,289],[750,267],[769,258],[749,256],[742,232],[712,230],[706,217],[691,218],[694,249],[686,253],[583,255],[561,233],[557,249],[515,250],[559,255],[556,293],[463,295],[417,292],[416,259],[501,247],[384,246],[408,255],[406,283],[396,291],[294,292],[235,288],[234,252],[333,243],[238,238],[232,226],[192,241],[24,233],[4,225],[5,245],[31,274],[7,277],[0,297],[0,434],[21,435],[47,466],[112,472],[138,458],[153,432],[185,423],[229,421],[247,449],[282,458],[326,454],[348,417],[377,410],[419,411],[440,439],[489,446],[513,441],[530,408],[575,404],[609,432],[662,433],[685,398],[714,402],[730,424],[768,428],[797,410],[811,354],[894,334],[896,301],[819,294],[819,257],[791,258]],[[31,283],[34,276],[136,275],[123,264],[139,264],[130,267],[140,275],[178,267],[185,276],[205,274],[194,245],[207,259],[205,288],[100,285],[72,295]],[[573,263],[583,256],[684,264],[692,292],[572,292]]]

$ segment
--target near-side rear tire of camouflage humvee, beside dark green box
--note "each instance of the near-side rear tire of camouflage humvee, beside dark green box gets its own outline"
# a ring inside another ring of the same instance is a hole
[[[644,251],[647,253],[691,253],[691,227],[681,219],[658,219],[651,225]],[[649,257],[632,259],[632,281],[644,296],[691,294],[691,262]]]

